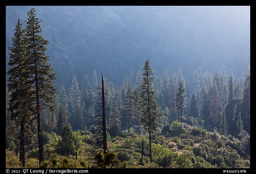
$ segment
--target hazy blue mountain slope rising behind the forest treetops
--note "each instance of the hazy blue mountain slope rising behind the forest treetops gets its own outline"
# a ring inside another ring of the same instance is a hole
[[[213,72],[226,66],[238,76],[250,63],[247,7],[33,7],[49,40],[47,55],[58,87],[69,87],[73,75],[78,82],[85,74],[90,78],[94,69],[120,85],[148,58],[155,73],[181,67],[188,81],[198,66]],[[30,8],[6,7],[6,65],[17,20],[25,28]]]

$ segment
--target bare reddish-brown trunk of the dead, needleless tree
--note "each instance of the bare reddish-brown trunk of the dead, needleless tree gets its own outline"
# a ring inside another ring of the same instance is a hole
[[[104,97],[104,81],[101,73],[102,83],[102,119],[103,119],[103,153],[107,153],[107,131],[106,131],[106,114],[105,114],[105,97]]]

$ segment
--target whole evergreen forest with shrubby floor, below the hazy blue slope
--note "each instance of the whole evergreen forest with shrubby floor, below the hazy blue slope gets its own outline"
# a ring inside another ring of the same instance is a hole
[[[250,64],[185,76],[144,57],[118,82],[103,65],[58,81],[47,31],[27,14],[6,59],[6,168],[251,167]]]

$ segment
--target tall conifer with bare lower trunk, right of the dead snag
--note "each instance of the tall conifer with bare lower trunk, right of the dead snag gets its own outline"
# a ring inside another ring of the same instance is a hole
[[[140,122],[144,125],[144,129],[148,131],[149,134],[149,160],[152,162],[152,147],[151,147],[151,135],[157,127],[157,117],[160,116],[159,107],[156,104],[156,99],[154,98],[156,91],[153,87],[154,77],[152,69],[149,66],[149,60],[144,63],[143,67],[144,73],[141,84],[140,93]]]

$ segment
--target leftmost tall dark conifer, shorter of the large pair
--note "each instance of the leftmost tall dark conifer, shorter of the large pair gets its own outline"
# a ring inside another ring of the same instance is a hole
[[[22,166],[25,166],[25,152],[24,152],[24,132],[28,123],[33,120],[32,113],[30,112],[31,104],[28,102],[28,85],[27,72],[25,69],[25,43],[24,43],[24,30],[21,29],[22,24],[20,19],[15,28],[14,37],[12,38],[12,46],[10,60],[8,65],[8,92],[10,98],[8,100],[8,112],[13,125],[20,128],[20,154]]]

